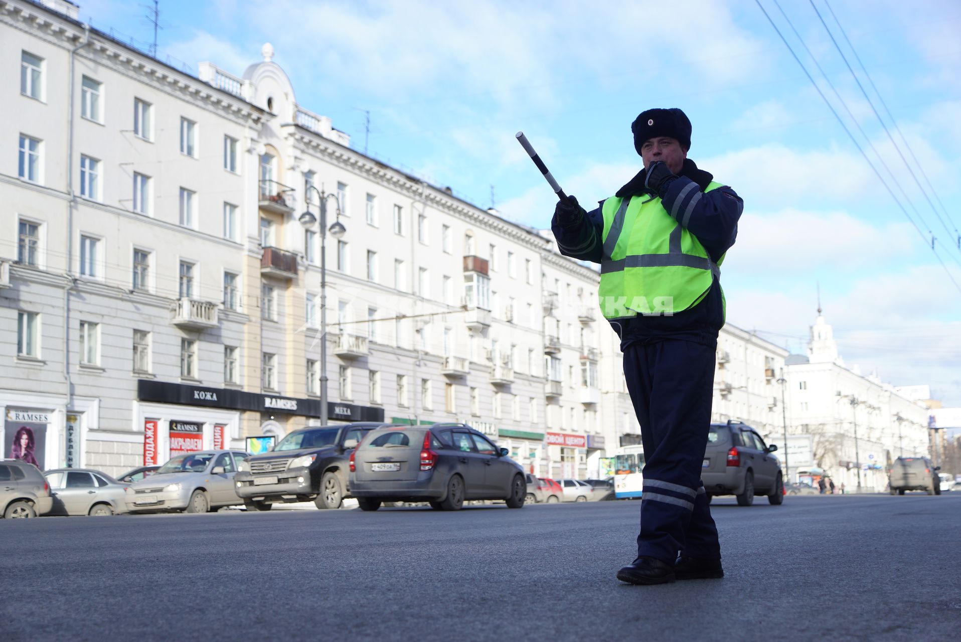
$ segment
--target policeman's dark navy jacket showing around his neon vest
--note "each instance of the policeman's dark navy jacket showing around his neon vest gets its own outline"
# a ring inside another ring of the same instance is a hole
[[[644,187],[645,170],[627,185],[618,190],[616,196],[628,197],[648,194]],[[703,191],[713,180],[713,177],[698,166],[693,160],[684,160],[684,166],[661,200],[665,210],[674,208],[678,195],[686,185],[693,181]],[[689,191],[678,211],[684,211],[695,191]],[[600,206],[604,201],[600,202]],[[706,192],[691,212],[687,223],[687,230],[698,237],[707,254],[715,262],[720,259],[734,244],[737,236],[737,221],[744,209],[744,202],[733,189],[724,186]],[[569,226],[561,226],[554,220],[551,222],[554,238],[560,253],[566,257],[579,260],[590,260],[600,263],[602,259],[602,235],[604,234],[604,215],[601,207],[587,212],[579,220]],[[722,266],[722,270],[724,267]],[[636,341],[651,342],[663,338],[679,338],[696,341],[704,345],[716,346],[718,331],[724,325],[724,304],[722,301],[721,284],[715,277],[707,295],[701,303],[693,308],[675,312],[673,316],[636,316],[631,319],[611,321],[614,331],[621,337],[621,350]]]

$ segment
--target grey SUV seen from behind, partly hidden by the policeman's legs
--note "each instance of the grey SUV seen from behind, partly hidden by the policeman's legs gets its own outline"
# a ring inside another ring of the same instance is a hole
[[[711,424],[701,480],[707,499],[734,495],[740,506],[751,506],[756,495],[767,495],[771,504],[784,502],[780,461],[751,426],[735,421]]]

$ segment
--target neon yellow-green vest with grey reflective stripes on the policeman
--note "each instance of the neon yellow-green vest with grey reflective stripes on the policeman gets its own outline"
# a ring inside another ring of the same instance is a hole
[[[706,191],[721,187],[711,182]],[[702,199],[697,184],[685,185],[670,212],[660,198],[609,198],[604,215],[599,297],[608,319],[672,314],[701,302],[719,265],[686,223]]]

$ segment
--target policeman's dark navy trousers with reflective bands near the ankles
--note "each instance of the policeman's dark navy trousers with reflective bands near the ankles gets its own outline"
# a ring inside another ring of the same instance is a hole
[[[701,481],[714,359],[710,346],[680,339],[633,343],[624,352],[645,457],[638,556],[671,564],[678,554],[721,558]]]

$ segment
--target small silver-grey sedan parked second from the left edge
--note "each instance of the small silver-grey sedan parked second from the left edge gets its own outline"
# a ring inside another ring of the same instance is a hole
[[[113,515],[127,512],[124,484],[88,468],[58,468],[43,473],[54,506],[48,515]]]

